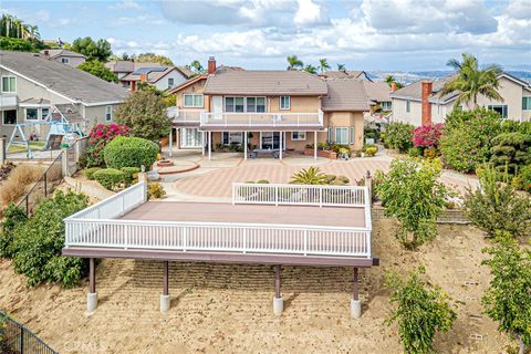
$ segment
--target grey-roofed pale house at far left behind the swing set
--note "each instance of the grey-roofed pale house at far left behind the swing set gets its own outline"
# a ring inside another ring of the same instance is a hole
[[[39,124],[51,107],[72,105],[86,132],[113,122],[128,92],[82,70],[48,60],[43,54],[0,51],[0,134],[9,137],[17,124],[24,134],[45,134]]]

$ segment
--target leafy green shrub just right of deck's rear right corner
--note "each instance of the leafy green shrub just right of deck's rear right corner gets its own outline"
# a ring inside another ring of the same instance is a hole
[[[394,159],[377,187],[385,214],[400,225],[396,237],[406,248],[415,249],[437,235],[436,220],[448,195],[438,181],[440,169],[438,159]]]

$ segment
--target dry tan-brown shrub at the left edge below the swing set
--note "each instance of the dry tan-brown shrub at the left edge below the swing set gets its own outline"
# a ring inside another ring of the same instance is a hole
[[[2,186],[0,186],[0,201],[2,205],[17,201],[17,199],[22,197],[27,186],[37,181],[42,173],[43,168],[41,166],[18,165]]]

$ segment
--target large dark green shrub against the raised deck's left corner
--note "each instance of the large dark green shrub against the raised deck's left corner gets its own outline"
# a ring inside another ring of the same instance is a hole
[[[61,256],[64,247],[64,221],[86,208],[87,197],[59,190],[42,200],[33,217],[14,230],[13,266],[28,278],[30,287],[42,282],[75,285],[87,272],[86,259]]]

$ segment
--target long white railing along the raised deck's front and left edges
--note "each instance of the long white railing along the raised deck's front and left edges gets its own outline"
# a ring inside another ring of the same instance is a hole
[[[332,188],[353,191],[352,199],[334,199],[334,204],[351,200],[358,206],[367,200],[366,189],[350,188]],[[371,258],[371,223],[355,228],[116,219],[145,202],[145,196],[146,185],[138,183],[66,218],[65,247]]]

